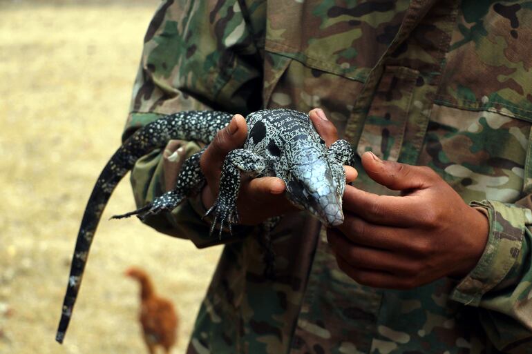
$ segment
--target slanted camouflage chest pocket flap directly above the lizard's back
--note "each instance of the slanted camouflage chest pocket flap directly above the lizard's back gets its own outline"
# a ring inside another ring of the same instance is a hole
[[[365,81],[397,34],[409,3],[268,1],[265,47],[310,68]]]

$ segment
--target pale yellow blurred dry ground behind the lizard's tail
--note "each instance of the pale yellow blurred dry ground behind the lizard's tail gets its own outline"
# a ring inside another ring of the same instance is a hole
[[[120,144],[144,1],[0,0],[0,353],[147,353],[137,322],[145,268],[181,318],[184,353],[220,248],[197,250],[136,219],[129,182],[102,217],[65,344],[55,342],[68,263],[99,170]]]

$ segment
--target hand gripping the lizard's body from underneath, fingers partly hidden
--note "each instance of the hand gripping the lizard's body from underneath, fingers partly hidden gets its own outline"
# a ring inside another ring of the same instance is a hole
[[[337,139],[336,128],[326,118],[323,120],[322,110],[312,110],[310,119],[319,135],[329,146]],[[244,117],[235,115],[231,123],[220,130],[205,153],[200,159],[200,167],[207,186],[202,190],[202,201],[204,206],[210,208],[218,195],[220,174],[226,155],[244,144],[247,135],[247,125]],[[346,166],[348,181],[357,177],[354,168]],[[285,184],[277,177],[260,177],[241,179],[240,191],[236,206],[238,210],[240,224],[260,224],[269,217],[283,215],[285,213],[298,210],[285,197]]]

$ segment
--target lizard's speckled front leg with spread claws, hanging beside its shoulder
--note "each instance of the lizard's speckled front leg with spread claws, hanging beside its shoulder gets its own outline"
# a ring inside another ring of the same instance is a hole
[[[231,225],[238,223],[236,198],[240,189],[240,173],[243,172],[251,175],[251,177],[256,177],[263,172],[265,167],[263,157],[252,153],[251,150],[236,149],[227,155],[222,166],[218,197],[213,206],[205,213],[205,216],[211,213],[214,215],[211,234],[214,232],[217,222],[220,222],[220,239],[223,228],[227,227],[231,233]]]

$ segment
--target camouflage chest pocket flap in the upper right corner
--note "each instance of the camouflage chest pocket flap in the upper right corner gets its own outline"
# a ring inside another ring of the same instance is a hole
[[[532,121],[532,8],[475,3],[458,17],[436,102]]]

